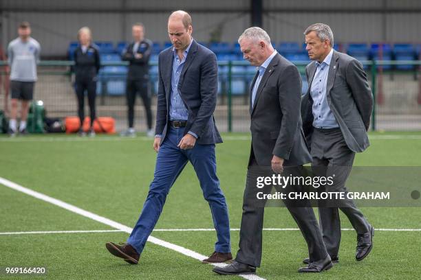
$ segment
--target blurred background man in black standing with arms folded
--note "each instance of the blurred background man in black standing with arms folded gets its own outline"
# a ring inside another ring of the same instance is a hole
[[[136,102],[136,94],[139,93],[140,97],[142,97],[147,117],[147,135],[153,137],[155,135],[152,129],[151,97],[148,91],[149,58],[152,51],[152,42],[144,38],[144,26],[142,23],[133,24],[131,32],[134,41],[122,52],[122,60],[130,62],[126,88],[129,129],[122,132],[121,135],[130,137],[136,135],[133,126],[134,104]]]

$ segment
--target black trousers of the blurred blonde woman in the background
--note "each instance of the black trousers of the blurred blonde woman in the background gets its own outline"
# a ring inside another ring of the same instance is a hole
[[[80,127],[83,126],[83,120],[85,119],[85,91],[87,91],[92,126],[96,118],[96,81],[93,79],[76,80],[74,87],[76,90],[76,96],[78,97],[78,115],[80,119]]]

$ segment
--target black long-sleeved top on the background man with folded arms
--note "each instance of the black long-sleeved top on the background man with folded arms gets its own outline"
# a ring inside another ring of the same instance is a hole
[[[122,60],[129,61],[129,72],[127,80],[147,80],[149,78],[149,58],[152,53],[151,40],[144,39],[140,42],[138,54],[142,54],[142,58],[135,58],[133,54],[134,42],[130,43],[122,53]]]

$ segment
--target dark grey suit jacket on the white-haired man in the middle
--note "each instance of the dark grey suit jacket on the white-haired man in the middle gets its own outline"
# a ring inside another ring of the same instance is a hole
[[[256,78],[257,74],[251,91]],[[254,106],[250,106],[249,165],[255,156],[258,165],[270,166],[273,155],[283,158],[285,166],[310,163],[301,128],[300,102],[301,75],[290,61],[277,54],[261,78]]]

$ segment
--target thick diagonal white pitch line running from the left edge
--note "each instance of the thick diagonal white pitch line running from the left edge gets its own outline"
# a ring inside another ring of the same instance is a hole
[[[52,205],[56,205],[58,207],[69,210],[73,213],[82,215],[82,216],[84,216],[86,218],[89,218],[91,220],[95,220],[95,221],[100,222],[102,224],[107,224],[107,226],[111,226],[114,229],[118,229],[120,231],[125,231],[126,233],[131,233],[131,231],[133,230],[129,226],[125,226],[124,224],[120,224],[119,222],[115,222],[113,220],[102,217],[100,215],[96,215],[95,213],[83,210],[83,209],[81,209],[79,207],[76,207],[74,205],[70,205],[69,203],[66,203],[62,200],[58,200],[56,198],[52,198],[51,196],[46,196],[45,194],[41,194],[38,191],[33,191],[32,189],[22,187],[21,185],[18,185],[17,183],[13,183],[12,181],[7,180],[5,178],[0,177],[0,184],[4,185],[6,187],[10,187],[10,189],[20,191],[23,194],[28,194],[28,196],[38,198],[39,200],[43,200],[45,202],[51,203]],[[160,240],[156,237],[153,237],[152,235],[149,235],[148,241],[153,243],[153,244],[157,244],[157,245],[163,246],[165,248],[175,250],[178,253],[182,253],[183,255],[186,255],[188,257],[193,257],[193,259],[197,259],[199,261],[202,261],[202,259],[207,258],[207,256],[205,256],[205,255],[199,254],[199,253],[197,253],[193,250],[190,250],[188,248],[184,248],[182,246],[178,246],[178,245],[172,244],[170,242]],[[213,266],[219,266],[219,267],[227,266],[227,264],[212,264],[212,265]],[[244,279],[249,279],[249,280],[266,280],[266,279],[264,279],[262,277],[259,277],[257,275],[239,275],[239,276],[243,277]]]

